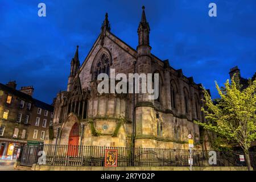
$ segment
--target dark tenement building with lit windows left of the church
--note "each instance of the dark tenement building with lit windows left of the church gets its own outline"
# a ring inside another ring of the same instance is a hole
[[[53,106],[32,97],[34,88],[0,84],[0,159],[15,159],[22,144],[43,143]]]

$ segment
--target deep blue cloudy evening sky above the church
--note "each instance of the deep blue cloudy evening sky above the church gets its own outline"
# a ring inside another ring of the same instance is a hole
[[[38,16],[40,2],[46,3],[44,18]],[[210,2],[217,4],[217,18],[208,16]],[[106,12],[112,32],[136,48],[142,5],[152,53],[193,76],[213,97],[214,80],[223,84],[230,68],[238,65],[243,77],[256,72],[255,0],[1,0],[0,82],[16,80],[18,89],[33,85],[34,97],[51,104],[67,88],[76,45],[82,63]]]

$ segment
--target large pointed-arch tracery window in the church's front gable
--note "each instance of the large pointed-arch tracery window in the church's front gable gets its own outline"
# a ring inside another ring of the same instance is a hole
[[[109,76],[109,56],[106,53],[102,53],[97,61],[96,68],[94,70],[94,79],[97,80],[98,75],[106,73]]]

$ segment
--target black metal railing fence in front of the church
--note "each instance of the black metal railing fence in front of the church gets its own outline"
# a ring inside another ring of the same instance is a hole
[[[105,150],[118,150],[118,167],[188,167],[189,150],[166,148],[141,148],[136,147],[134,156],[131,156],[130,147],[105,147],[105,146],[68,146],[44,144],[39,146],[23,146],[18,160],[20,165],[32,166],[34,163],[55,166],[104,166]],[[38,155],[39,151],[40,152]],[[242,151],[215,151],[216,164],[210,164],[210,151],[192,150],[194,167],[246,167],[240,161]],[[44,155],[44,158],[40,156]],[[40,159],[39,159],[40,158]],[[251,166],[256,168],[256,152],[250,152]]]

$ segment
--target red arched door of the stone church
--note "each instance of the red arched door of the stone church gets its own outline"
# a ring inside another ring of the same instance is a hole
[[[76,156],[79,152],[79,125],[75,123],[69,133],[68,155]]]

